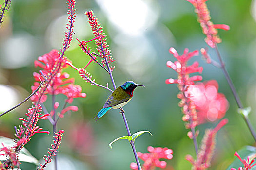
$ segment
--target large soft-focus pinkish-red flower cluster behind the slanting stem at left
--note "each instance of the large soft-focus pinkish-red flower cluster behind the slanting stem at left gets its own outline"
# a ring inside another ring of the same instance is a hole
[[[57,50],[52,50],[50,53],[47,53],[43,56],[38,57],[38,60],[35,61],[35,66],[39,66],[40,68],[43,68],[42,74],[48,75],[51,70],[53,70],[56,66],[56,63],[58,63],[61,60],[62,68],[67,67],[66,61],[67,59],[65,57],[60,58],[59,52]],[[39,81],[41,81],[42,77],[39,73],[34,72],[33,76],[37,82],[34,83],[34,86],[32,86],[32,90],[35,90],[39,85]],[[51,95],[57,95],[57,94],[64,94],[67,96],[66,102],[72,103],[74,98],[85,98],[86,94],[82,93],[82,88],[80,85],[74,85],[74,79],[68,79],[69,74],[68,73],[62,73],[62,69],[60,69],[59,73],[56,74],[52,78],[52,81],[50,85],[48,85],[45,89],[44,95],[42,96],[40,102],[45,102],[47,100],[46,94],[49,93]],[[39,92],[37,92],[35,95],[31,97],[31,100],[33,102],[37,102],[39,100]],[[58,105],[59,106],[59,105]],[[55,109],[58,108],[56,106]],[[76,106],[69,106],[67,108],[64,108],[60,116],[63,117],[63,114],[67,112],[68,110],[77,111],[78,108],[74,108]],[[53,110],[51,111],[53,112]],[[51,114],[51,116],[53,113]]]

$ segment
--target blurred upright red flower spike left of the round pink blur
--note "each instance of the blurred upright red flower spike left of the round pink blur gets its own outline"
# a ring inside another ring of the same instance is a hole
[[[167,79],[165,81],[166,84],[178,84],[178,88],[180,90],[180,93],[177,95],[181,101],[179,102],[179,106],[182,107],[182,111],[184,113],[184,116],[182,118],[183,121],[189,122],[186,124],[186,128],[195,128],[197,126],[197,111],[196,106],[194,102],[186,97],[187,87],[189,85],[194,85],[194,81],[200,81],[202,80],[201,76],[192,76],[190,77],[189,74],[195,73],[195,72],[202,72],[203,68],[198,67],[198,62],[194,62],[191,66],[187,66],[188,60],[198,55],[198,51],[193,51],[188,53],[188,49],[184,50],[183,55],[179,55],[177,51],[172,47],[170,48],[169,52],[174,55],[174,57],[177,59],[174,63],[171,61],[167,61],[167,67],[172,68],[175,70],[178,74],[177,79]]]

